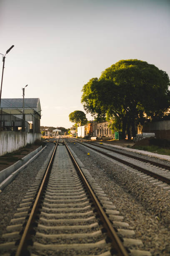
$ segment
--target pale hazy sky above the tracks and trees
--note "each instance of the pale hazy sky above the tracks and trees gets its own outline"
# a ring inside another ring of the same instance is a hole
[[[70,128],[68,115],[85,112],[83,85],[115,62],[140,59],[170,76],[170,0],[0,0],[0,53],[12,45],[2,98],[22,98],[28,84],[40,125]]]

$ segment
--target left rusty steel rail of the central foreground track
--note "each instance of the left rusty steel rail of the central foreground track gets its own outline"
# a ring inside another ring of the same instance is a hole
[[[58,141],[59,141],[59,139],[58,139]],[[37,193],[37,197],[35,199],[34,205],[33,205],[32,210],[30,212],[30,216],[28,218],[28,222],[27,222],[27,224],[25,226],[25,229],[24,229],[23,235],[21,237],[21,240],[20,240],[20,243],[19,243],[19,246],[18,246],[18,249],[17,249],[17,252],[16,252],[15,256],[23,256],[23,255],[25,255],[24,252],[26,251],[27,241],[28,241],[28,238],[30,236],[30,231],[32,229],[32,224],[34,223],[36,215],[37,215],[37,210],[38,210],[38,207],[40,205],[42,193],[44,192],[45,184],[47,182],[47,178],[48,178],[48,176],[50,174],[50,168],[52,166],[52,162],[53,162],[53,159],[54,159],[54,156],[55,156],[55,152],[56,152],[56,149],[57,149],[58,141],[57,141],[57,143],[53,142],[53,143],[55,143],[55,148],[54,148],[53,154],[51,156],[50,162],[49,162],[49,164],[47,166],[45,175],[44,175],[44,177],[42,179],[42,183],[40,185],[40,189],[39,189],[39,191]]]

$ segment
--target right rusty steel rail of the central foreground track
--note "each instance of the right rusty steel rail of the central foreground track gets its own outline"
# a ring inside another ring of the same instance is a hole
[[[103,210],[102,206],[100,205],[100,202],[98,201],[97,197],[95,196],[95,193],[93,192],[92,187],[88,183],[87,179],[85,178],[85,175],[83,174],[82,170],[80,169],[79,165],[77,164],[77,161],[75,160],[70,149],[68,148],[67,143],[65,141],[64,141],[64,143],[65,143],[67,151],[73,161],[73,164],[75,165],[78,173],[80,174],[82,182],[84,183],[85,187],[87,188],[87,191],[89,192],[90,197],[97,209],[97,213],[100,216],[100,220],[102,220],[102,225],[107,230],[107,236],[111,240],[112,249],[113,249],[114,253],[117,256],[128,256],[128,253],[125,250],[125,247],[122,245],[120,238],[117,236],[117,233],[115,232],[114,228],[112,227],[110,220],[107,218],[107,215],[105,214],[105,211]],[[115,252],[115,250],[116,250],[116,252]]]

